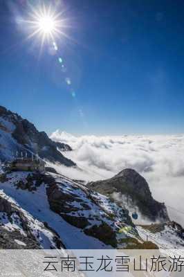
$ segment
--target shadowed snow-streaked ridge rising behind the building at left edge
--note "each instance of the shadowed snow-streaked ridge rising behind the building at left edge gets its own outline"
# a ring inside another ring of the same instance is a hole
[[[76,164],[64,157],[62,151],[71,151],[64,143],[56,143],[48,138],[45,132],[39,132],[28,120],[0,106],[0,159],[12,159],[13,153],[35,153],[52,163],[64,166]]]

